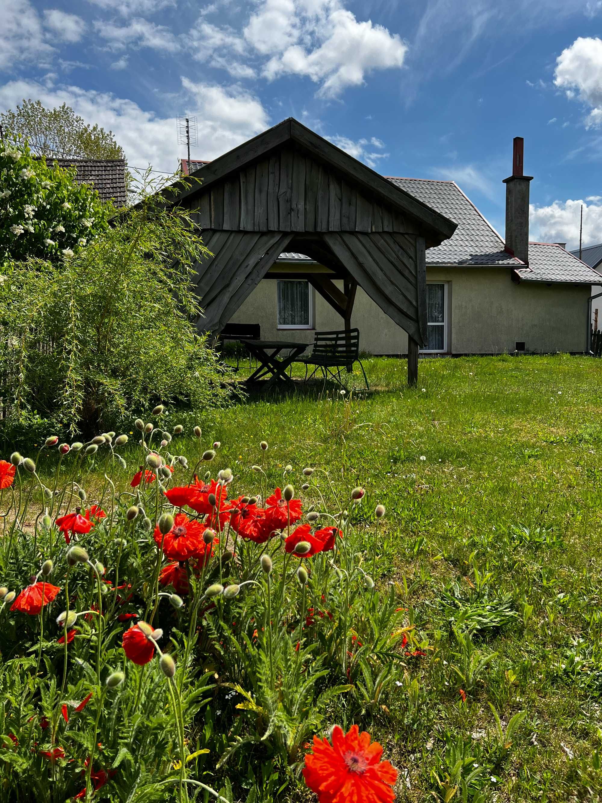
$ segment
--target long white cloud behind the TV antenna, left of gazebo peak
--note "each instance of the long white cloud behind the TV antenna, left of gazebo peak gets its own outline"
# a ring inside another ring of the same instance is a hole
[[[269,127],[261,102],[237,87],[194,84],[181,79],[188,112],[198,118],[199,158],[213,159]],[[47,108],[63,103],[89,123],[110,129],[124,148],[130,165],[173,172],[183,156],[177,145],[175,117],[147,112],[132,100],[109,92],[76,86],[46,88],[34,81],[15,80],[0,87],[0,108],[14,108],[22,98],[39,99]]]

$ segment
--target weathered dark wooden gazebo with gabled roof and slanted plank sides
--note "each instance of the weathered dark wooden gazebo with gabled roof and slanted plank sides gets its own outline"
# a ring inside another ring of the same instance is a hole
[[[295,251],[319,263],[299,270],[345,328],[359,285],[405,329],[408,378],[417,381],[426,336],[425,248],[449,238],[454,222],[292,118],[207,162],[193,178],[182,179],[177,202],[192,210],[213,254],[198,265],[199,328],[220,332],[261,279],[279,278],[268,275],[279,255]],[[343,291],[334,279],[343,279]]]

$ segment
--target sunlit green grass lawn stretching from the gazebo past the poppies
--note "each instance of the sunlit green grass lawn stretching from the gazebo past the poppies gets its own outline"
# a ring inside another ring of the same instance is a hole
[[[378,582],[394,584],[426,653],[367,719],[401,769],[398,800],[462,800],[435,777],[445,784],[462,756],[462,777],[479,771],[467,800],[600,800],[602,361],[421,361],[416,389],[405,361],[365,365],[368,397],[299,392],[170,424],[199,424],[203,448],[221,442],[233,493],[257,486],[265,439],[274,485],[287,463],[295,487],[321,467],[341,490],[366,487],[367,510],[384,503]],[[197,448],[177,446],[191,461]],[[472,655],[454,637],[462,622]],[[488,703],[502,728],[526,712],[507,748]]]

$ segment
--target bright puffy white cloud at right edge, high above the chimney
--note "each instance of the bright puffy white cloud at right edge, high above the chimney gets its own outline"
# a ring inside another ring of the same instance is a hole
[[[585,124],[602,124],[602,39],[580,36],[556,59],[554,84],[591,108]]]

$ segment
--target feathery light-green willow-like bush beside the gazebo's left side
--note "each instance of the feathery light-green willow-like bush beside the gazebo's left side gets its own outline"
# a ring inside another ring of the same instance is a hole
[[[207,253],[189,213],[144,196],[63,263],[0,276],[6,423],[86,434],[157,402],[211,406],[227,382],[197,332],[193,266]]]

